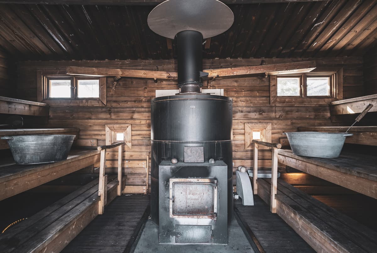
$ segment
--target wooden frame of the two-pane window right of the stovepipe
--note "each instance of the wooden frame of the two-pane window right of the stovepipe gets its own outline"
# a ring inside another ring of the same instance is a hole
[[[329,96],[307,96],[308,77],[330,77]],[[279,77],[300,77],[300,96],[277,96],[277,78]],[[270,76],[270,104],[329,104],[333,101],[343,99],[343,69],[329,72],[310,72],[292,75]]]

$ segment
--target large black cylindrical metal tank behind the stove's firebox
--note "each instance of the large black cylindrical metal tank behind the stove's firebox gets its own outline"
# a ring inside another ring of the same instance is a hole
[[[209,94],[179,94],[151,101],[151,217],[158,223],[158,165],[183,161],[184,146],[203,146],[204,160],[228,165],[228,221],[233,218],[231,98]],[[195,176],[195,175],[193,175]]]

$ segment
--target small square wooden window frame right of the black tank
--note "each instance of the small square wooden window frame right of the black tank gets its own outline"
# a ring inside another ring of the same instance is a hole
[[[265,139],[261,140],[262,142],[271,142],[272,139],[272,123],[254,123],[254,122],[245,122],[245,149],[253,149],[253,131],[263,130],[261,137]],[[260,146],[259,149],[269,149],[266,146]]]

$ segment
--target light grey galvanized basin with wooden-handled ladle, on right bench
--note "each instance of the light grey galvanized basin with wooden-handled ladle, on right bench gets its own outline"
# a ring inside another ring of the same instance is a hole
[[[342,151],[349,133],[288,132],[292,152],[309,157],[336,158]]]

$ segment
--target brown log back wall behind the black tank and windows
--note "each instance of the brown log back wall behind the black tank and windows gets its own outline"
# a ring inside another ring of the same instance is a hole
[[[307,59],[265,59],[266,64],[301,61]],[[343,98],[363,95],[361,81],[362,58],[316,59],[320,71],[343,67]],[[204,69],[259,65],[261,59],[204,60]],[[150,61],[30,61],[18,63],[18,98],[36,101],[37,70],[64,72],[66,66],[127,67],[176,71],[174,60]],[[50,107],[48,127],[80,128],[80,139],[98,139],[105,145],[106,124],[132,124],[132,149],[124,150],[123,159],[144,160],[150,155],[150,100],[156,89],[175,89],[172,81],[121,78],[112,90],[113,78],[107,78],[107,105],[104,107],[71,106]],[[329,106],[323,105],[270,105],[269,78],[264,76],[218,79],[204,82],[203,88],[223,88],[225,96],[233,98],[233,159],[234,168],[252,166],[253,150],[245,150],[245,122],[271,122],[272,142],[279,142],[286,131],[297,131],[303,126],[329,126]],[[337,123],[338,124],[338,123]],[[259,151],[260,166],[271,166],[271,152]],[[108,152],[109,159],[117,159],[116,150]],[[145,178],[129,177],[133,184],[145,183]],[[144,180],[144,181],[143,181]]]

